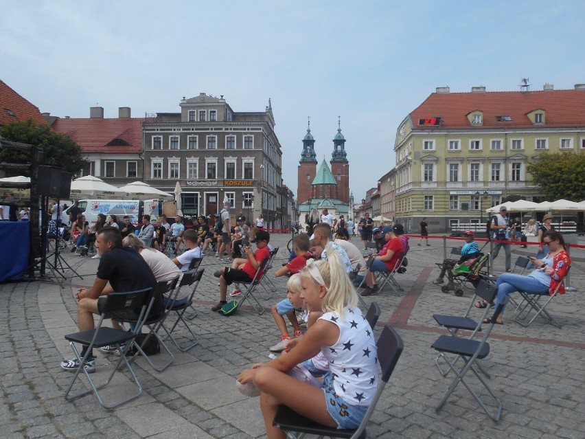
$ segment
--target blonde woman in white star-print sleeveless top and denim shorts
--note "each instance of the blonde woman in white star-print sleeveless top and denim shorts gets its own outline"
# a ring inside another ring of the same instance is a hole
[[[309,260],[301,271],[301,298],[309,311],[322,311],[301,338],[269,363],[244,370],[238,381],[260,389],[260,408],[268,438],[285,438],[272,422],[281,404],[318,423],[340,429],[357,428],[378,385],[378,357],[373,331],[357,307],[358,297],[341,258]],[[330,363],[321,387],[298,381],[286,372],[319,352]]]

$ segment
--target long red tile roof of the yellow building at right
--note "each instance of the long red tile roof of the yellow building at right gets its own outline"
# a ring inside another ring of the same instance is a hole
[[[505,128],[535,126],[527,113],[542,109],[543,127],[584,126],[585,90],[488,91],[476,93],[432,93],[411,113],[413,129]],[[483,125],[472,126],[466,117],[483,111]],[[498,122],[496,116],[511,116],[511,122]],[[441,117],[441,126],[419,126],[420,119]]]

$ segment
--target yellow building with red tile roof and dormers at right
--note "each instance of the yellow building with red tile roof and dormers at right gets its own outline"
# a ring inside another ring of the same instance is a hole
[[[543,201],[527,173],[542,153],[585,153],[585,86],[555,91],[450,93],[437,88],[395,139],[395,219],[415,232],[479,224],[507,196]]]

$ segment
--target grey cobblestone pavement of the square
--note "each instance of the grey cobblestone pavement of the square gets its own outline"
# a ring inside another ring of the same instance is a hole
[[[283,248],[288,239],[274,235],[272,243]],[[354,243],[360,244],[357,238]],[[396,295],[386,288],[367,297],[367,302],[376,300],[382,307],[376,333],[390,323],[405,346],[371,418],[369,437],[584,438],[585,252],[572,252],[571,284],[580,291],[567,293],[549,306],[562,329],[542,320],[524,328],[507,319],[509,315],[503,326],[494,328],[492,353],[483,367],[504,409],[501,421],[493,423],[462,385],[435,412],[450,378],[442,377],[435,366],[431,344],[444,330],[437,328],[432,315],[463,313],[471,292],[455,297],[431,284],[437,276],[435,262],[444,257],[442,243],[432,243],[411,248],[408,270],[398,276],[403,293]],[[514,249],[513,259],[523,251]],[[284,262],[288,256],[284,253],[279,253],[275,266]],[[63,256],[83,279],[68,278],[64,288],[53,280],[0,284],[5,301],[0,310],[1,437],[265,437],[257,399],[240,394],[235,378],[246,366],[267,359],[268,347],[279,339],[278,331],[269,311],[259,316],[244,308],[231,317],[211,312],[218,300],[213,273],[220,266],[211,256],[205,258],[205,275],[196,294],[198,315],[193,322],[198,346],[188,353],[175,352],[174,363],[160,374],[138,361],[135,369],[144,394],[113,411],[102,409],[93,396],[65,401],[71,374],[60,370],[58,363],[71,357],[63,336],[76,331],[73,291],[93,282],[98,260],[70,253]],[[501,273],[502,264],[501,255],[495,261],[495,273]],[[284,297],[285,280],[275,280],[275,284],[277,291],[271,298],[260,299],[267,308]],[[112,367],[101,354],[97,365],[94,376]],[[125,374],[117,377],[116,392],[124,392],[127,378]],[[471,374],[468,379],[479,388]]]

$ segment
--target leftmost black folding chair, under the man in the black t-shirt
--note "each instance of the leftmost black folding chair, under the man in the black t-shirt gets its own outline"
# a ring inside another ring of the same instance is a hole
[[[110,293],[106,297],[106,302],[104,304],[102,315],[100,315],[100,320],[98,324],[95,326],[95,329],[65,335],[65,339],[69,341],[71,349],[73,349],[73,352],[75,352],[76,358],[79,361],[79,367],[77,368],[75,374],[73,375],[71,384],[69,384],[69,387],[67,387],[67,392],[65,392],[65,399],[67,401],[80,398],[81,396],[85,396],[93,392],[93,394],[95,394],[95,397],[98,398],[98,402],[100,403],[100,405],[102,405],[102,407],[106,409],[113,409],[115,407],[118,407],[119,405],[127,403],[128,401],[132,401],[133,399],[138,398],[142,394],[142,386],[138,381],[138,377],[136,376],[132,366],[128,362],[128,359],[126,358],[127,350],[121,348],[121,346],[123,344],[126,344],[126,346],[130,346],[131,342],[140,332],[142,324],[144,323],[144,319],[146,315],[148,315],[147,305],[149,304],[149,302],[150,303],[152,302],[150,300],[151,296],[152,288],[147,288],[139,291],[130,291],[128,293]],[[128,332],[126,330],[108,328],[106,326],[102,327],[104,319],[108,318],[106,317],[106,315],[115,311],[125,311],[130,308],[141,310],[135,330]],[[81,344],[82,346],[88,346],[87,352],[83,358],[80,357],[80,354],[75,346],[76,343]],[[108,379],[106,379],[106,381],[100,385],[95,385],[95,383],[89,376],[89,373],[87,372],[87,370],[85,370],[84,363],[91,354],[91,350],[93,348],[101,348],[102,346],[108,345],[117,346],[120,352],[120,356],[117,363],[112,368],[112,372],[111,374],[109,374]],[[108,383],[112,381],[113,376],[119,369],[119,366],[122,364],[122,361],[124,361],[124,364],[126,365],[128,370],[130,371],[130,374],[132,375],[134,383],[137,387],[137,392],[131,396],[123,398],[120,401],[106,404],[102,399],[102,395],[100,395],[100,390],[106,387],[106,385],[108,385]],[[73,384],[80,375],[80,372],[83,372],[85,374],[87,381],[89,381],[91,389],[78,392],[77,394],[70,394],[71,389],[73,388]]]

